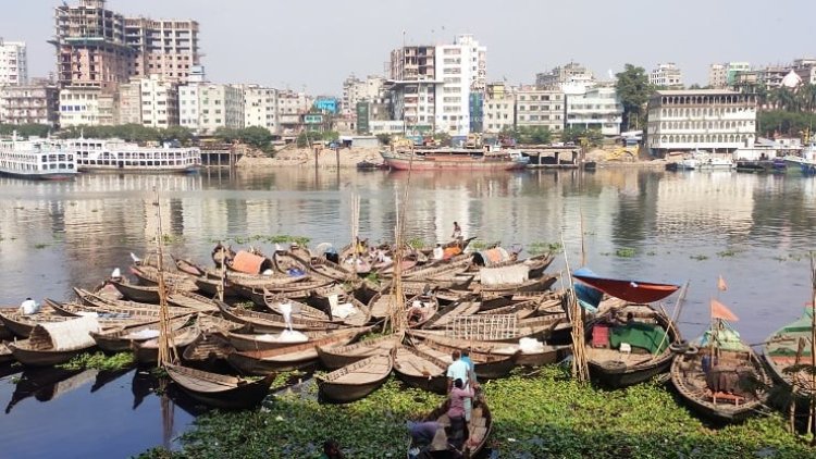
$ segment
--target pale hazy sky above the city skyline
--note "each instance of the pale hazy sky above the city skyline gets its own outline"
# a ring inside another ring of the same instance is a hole
[[[29,76],[55,67],[52,0],[0,0],[0,37],[28,44]],[[70,4],[76,3],[69,0]],[[195,18],[210,80],[342,92],[350,73],[382,74],[403,42],[473,34],[487,47],[487,78],[532,84],[574,60],[597,76],[629,62],[676,62],[685,84],[708,64],[786,63],[816,55],[816,1],[777,0],[109,0],[126,15]]]

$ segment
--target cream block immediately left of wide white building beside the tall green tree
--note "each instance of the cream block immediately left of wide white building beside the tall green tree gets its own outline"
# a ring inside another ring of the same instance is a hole
[[[522,86],[516,91],[516,127],[546,127],[564,131],[565,97],[560,89]]]

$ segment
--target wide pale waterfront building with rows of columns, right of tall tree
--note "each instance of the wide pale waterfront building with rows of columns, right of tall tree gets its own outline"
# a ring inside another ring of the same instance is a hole
[[[657,156],[733,150],[754,142],[756,96],[725,89],[656,91],[647,124],[646,145]]]

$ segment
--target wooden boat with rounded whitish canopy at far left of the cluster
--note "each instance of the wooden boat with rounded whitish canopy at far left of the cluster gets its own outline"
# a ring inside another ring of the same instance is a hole
[[[9,343],[8,346],[14,358],[24,365],[55,365],[92,348],[96,343],[88,332],[99,330],[96,318],[40,323],[34,327],[28,339]]]

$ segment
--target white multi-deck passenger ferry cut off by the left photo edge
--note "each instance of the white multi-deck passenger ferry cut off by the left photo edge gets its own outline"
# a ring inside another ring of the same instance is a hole
[[[71,179],[76,156],[63,144],[41,138],[0,140],[0,174],[34,179]]]

